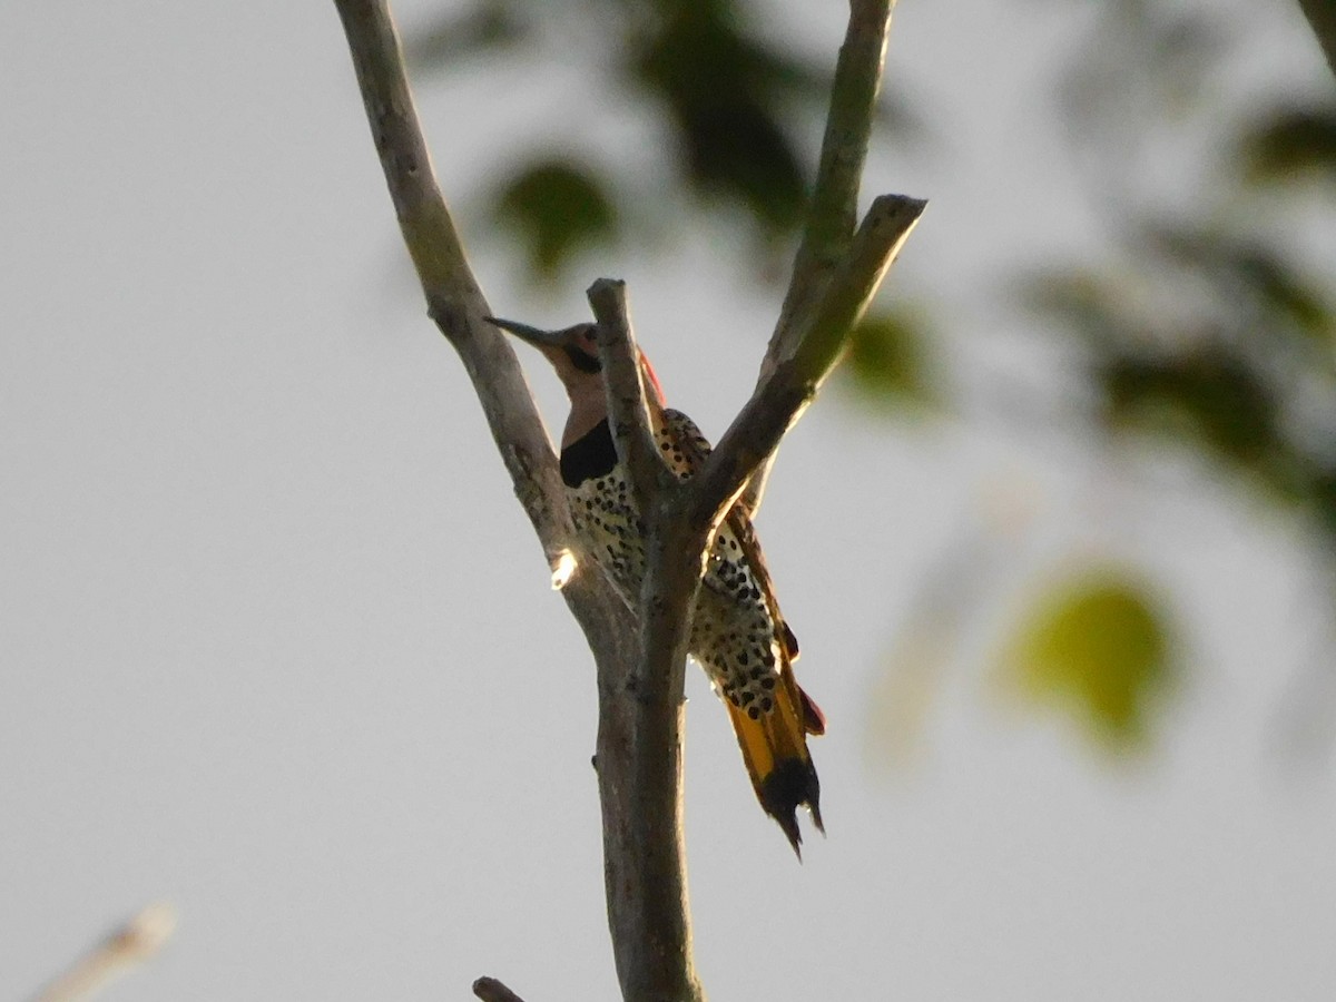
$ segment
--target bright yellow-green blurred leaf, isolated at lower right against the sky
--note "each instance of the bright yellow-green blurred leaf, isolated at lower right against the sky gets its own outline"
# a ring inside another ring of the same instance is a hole
[[[1118,744],[1146,736],[1148,717],[1172,688],[1164,613],[1120,568],[1059,581],[1029,612],[1006,659],[1021,693],[1057,704]]]

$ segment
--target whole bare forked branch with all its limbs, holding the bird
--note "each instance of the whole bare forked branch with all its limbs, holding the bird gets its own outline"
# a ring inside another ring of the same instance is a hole
[[[744,485],[754,484],[759,497],[784,430],[838,359],[923,208],[884,196],[854,235],[891,3],[850,3],[811,218],[763,375],[691,481],[679,485],[665,476],[655,449],[621,283],[591,289],[616,434],[636,470],[647,524],[639,629],[599,574],[577,573],[564,589],[599,668],[596,766],[608,923],[627,999],[704,998],[691,957],[681,846],[681,692],[709,540]],[[335,7],[429,313],[460,353],[516,494],[554,561],[573,537],[557,461],[510,345],[484,319],[490,310],[437,186],[386,0],[335,0]],[[482,998],[509,993],[492,979],[480,979],[474,990]]]

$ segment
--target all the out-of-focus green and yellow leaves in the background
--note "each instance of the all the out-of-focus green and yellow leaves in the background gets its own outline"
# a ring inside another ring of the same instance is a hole
[[[474,0],[442,5],[406,49],[432,81],[480,56],[524,60],[596,33],[591,76],[657,126],[671,170],[659,211],[737,231],[755,279],[778,282],[834,60],[807,61],[766,16],[763,0]],[[1299,510],[1336,569],[1336,261],[1312,251],[1336,226],[1336,90],[1303,104],[1252,95],[1234,112],[1217,99],[1220,72],[1245,44],[1226,7],[1100,5],[1053,81],[1054,107],[1037,114],[1062,122],[1105,251],[1010,273],[997,309],[1025,311],[1074,350],[1089,428],[1192,450]],[[883,94],[875,142],[930,146],[931,112]],[[1185,135],[1196,152],[1184,154]],[[1186,183],[1162,182],[1170,156],[1193,164]],[[548,287],[588,278],[588,250],[624,247],[644,203],[632,170],[545,140],[498,159],[481,198]],[[904,283],[875,306],[854,331],[846,398],[891,420],[958,406],[934,350],[937,313],[933,290]],[[1007,688],[1059,707],[1104,747],[1153,736],[1181,669],[1161,591],[1098,561],[1054,569],[1034,591],[999,645]],[[938,613],[943,629],[959,625],[959,609]]]

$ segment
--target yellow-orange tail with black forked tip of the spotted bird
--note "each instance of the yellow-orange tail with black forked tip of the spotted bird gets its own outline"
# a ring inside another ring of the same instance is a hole
[[[802,859],[803,836],[796,811],[807,807],[816,830],[822,824],[822,784],[807,751],[807,735],[826,732],[826,719],[812,699],[794,681],[787,665],[775,687],[775,705],[768,713],[752,716],[754,707],[735,707],[724,700],[733,733],[747,763],[756,799],[766,814],[779,822],[794,852]]]

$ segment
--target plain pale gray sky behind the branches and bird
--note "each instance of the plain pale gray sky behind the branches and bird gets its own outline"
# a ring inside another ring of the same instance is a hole
[[[786,16],[832,52],[828,7]],[[965,290],[1039,240],[1089,244],[1043,124],[1079,12],[896,19],[895,72],[949,139],[878,162],[868,188],[933,199],[903,274],[962,290],[950,319],[974,333],[945,350],[969,371],[965,351],[1021,347],[979,335]],[[1321,79],[1295,11],[1256,39],[1276,79]],[[110,998],[466,998],[485,973],[534,1002],[615,997],[592,667],[403,278],[333,7],[4,4],[0,92],[0,997],[154,899],[179,931]],[[636,135],[604,111],[560,68],[424,95],[456,199],[510,130]],[[585,281],[540,301],[464,222],[498,311],[582,315]],[[775,305],[713,239],[588,278],[631,282],[669,397],[717,436]],[[558,424],[554,379],[524,361]],[[1336,993],[1329,762],[1275,754],[1324,643],[1307,540],[1200,472],[1176,466],[1165,497],[1140,462],[834,397],[791,436],[759,528],[831,721],[830,838],[795,864],[693,671],[715,998]],[[1026,498],[1007,532],[999,494]],[[1170,725],[1130,763],[990,684],[1025,587],[1092,554],[1148,568],[1185,637]],[[977,569],[969,615],[923,673],[918,736],[888,740],[874,693],[914,695],[896,652],[949,560]]]

